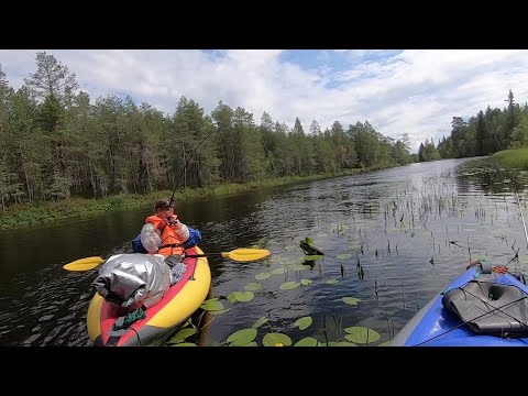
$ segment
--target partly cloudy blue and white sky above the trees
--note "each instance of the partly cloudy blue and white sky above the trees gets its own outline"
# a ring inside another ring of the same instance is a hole
[[[305,133],[369,121],[385,136],[420,143],[449,136],[453,117],[465,121],[488,106],[503,109],[512,89],[528,101],[527,50],[0,50],[15,89],[46,52],[75,73],[91,101],[130,96],[173,114],[193,99],[206,114],[221,100],[263,112]]]

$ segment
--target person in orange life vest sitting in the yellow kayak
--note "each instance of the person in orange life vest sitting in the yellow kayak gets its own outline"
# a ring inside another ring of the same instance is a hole
[[[141,243],[151,253],[178,255],[184,252],[184,242],[189,238],[189,229],[179,221],[168,200],[154,205],[155,215],[145,219],[141,230]]]

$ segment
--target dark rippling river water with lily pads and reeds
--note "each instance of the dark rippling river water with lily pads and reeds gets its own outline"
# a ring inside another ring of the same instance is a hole
[[[267,333],[284,334],[292,344],[310,338],[323,345],[383,345],[464,271],[470,256],[505,265],[519,250],[520,261],[508,267],[526,271],[512,174],[461,170],[466,162],[411,164],[188,202],[176,197],[176,212],[201,231],[205,252],[272,252],[250,263],[209,258],[212,292],[226,311],[211,316],[200,344],[226,345],[261,319],[257,345]],[[526,175],[514,177],[526,210]],[[86,314],[97,270],[62,267],[130,251],[151,211],[0,232],[0,344],[91,345]],[[302,265],[305,238],[324,252],[310,265]],[[248,288],[249,301],[227,298]],[[370,339],[361,339],[364,329]]]

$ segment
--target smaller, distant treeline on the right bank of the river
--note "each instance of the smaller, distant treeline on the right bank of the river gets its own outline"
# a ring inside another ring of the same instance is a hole
[[[490,106],[464,121],[453,117],[451,135],[435,142],[426,140],[418,150],[419,161],[491,155],[506,148],[528,147],[528,105],[519,106],[509,90],[507,106]]]

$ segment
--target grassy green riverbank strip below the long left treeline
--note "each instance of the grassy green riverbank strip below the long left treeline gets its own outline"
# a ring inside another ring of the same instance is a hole
[[[358,168],[336,174],[312,175],[306,177],[282,177],[246,184],[227,184],[206,188],[182,188],[177,190],[177,200],[191,200],[211,196],[224,196],[250,189],[292,185],[301,182],[353,175],[380,170],[382,167]],[[155,191],[146,195],[122,194],[101,199],[72,198],[58,202],[23,204],[10,206],[0,215],[0,230],[32,227],[57,220],[103,216],[108,212],[131,210],[152,206],[154,201],[170,197],[172,190]]]

